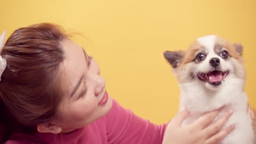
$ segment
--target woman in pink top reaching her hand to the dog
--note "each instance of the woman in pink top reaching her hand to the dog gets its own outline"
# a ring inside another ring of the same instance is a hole
[[[0,50],[1,142],[210,144],[235,128],[220,130],[232,111],[213,124],[219,110],[208,112],[184,128],[186,111],[167,125],[134,115],[109,97],[97,63],[60,26],[20,28]]]

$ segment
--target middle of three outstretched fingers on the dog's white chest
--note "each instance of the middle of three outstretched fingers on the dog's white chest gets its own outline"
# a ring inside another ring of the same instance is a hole
[[[233,111],[230,110],[226,112],[222,117],[218,118],[216,122],[210,124],[208,127],[202,130],[206,133],[208,137],[218,133],[218,131],[223,127],[223,125],[228,121],[229,117],[232,115]]]

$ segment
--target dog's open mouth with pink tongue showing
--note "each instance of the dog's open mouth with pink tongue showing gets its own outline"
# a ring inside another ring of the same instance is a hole
[[[222,80],[229,74],[229,71],[214,70],[209,73],[200,73],[199,79],[205,82],[209,82],[211,85],[218,86],[222,83]]]

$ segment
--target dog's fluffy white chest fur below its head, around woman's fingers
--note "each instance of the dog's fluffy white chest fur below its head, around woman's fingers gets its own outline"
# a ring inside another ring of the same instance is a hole
[[[232,124],[235,124],[236,128],[219,144],[252,144],[252,120],[246,111],[247,96],[242,89],[244,82],[235,77],[229,78],[230,85],[225,85],[219,89],[219,91],[206,89],[196,81],[192,83],[181,83],[179,85],[181,87],[179,109],[188,110],[190,112],[190,116],[184,120],[182,127],[193,123],[205,112],[219,109],[225,105],[224,109],[219,113],[219,116],[222,116],[228,110],[233,110],[234,112],[223,129]]]

